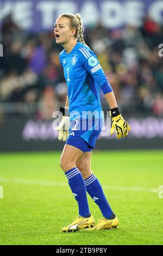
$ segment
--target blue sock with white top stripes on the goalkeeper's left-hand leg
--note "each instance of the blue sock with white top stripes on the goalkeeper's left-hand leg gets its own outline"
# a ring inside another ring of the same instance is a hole
[[[65,173],[68,184],[71,187],[72,193],[78,202],[79,215],[83,217],[90,216],[89,205],[86,197],[85,183],[82,174],[77,167],[67,170]]]

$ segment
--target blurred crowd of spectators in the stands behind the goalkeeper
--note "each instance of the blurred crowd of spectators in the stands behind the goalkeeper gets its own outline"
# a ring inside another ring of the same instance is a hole
[[[97,54],[121,112],[163,115],[163,28],[146,16],[141,28],[109,30],[102,23],[85,29],[86,44]],[[53,30],[22,31],[9,15],[1,26],[0,102],[33,106],[37,119],[51,119],[64,106],[67,87]],[[108,109],[100,91],[104,110]],[[12,104],[13,105],[13,104]],[[12,106],[11,105],[11,106]],[[35,106],[35,107],[34,107]]]

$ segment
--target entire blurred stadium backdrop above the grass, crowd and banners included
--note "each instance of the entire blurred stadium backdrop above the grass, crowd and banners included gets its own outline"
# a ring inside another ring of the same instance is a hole
[[[163,148],[161,1],[0,0],[0,150],[61,150],[52,114],[67,88],[53,35],[57,16],[81,13],[86,43],[96,52],[131,126],[128,138],[101,136],[97,149]],[[101,102],[108,111],[103,93]]]

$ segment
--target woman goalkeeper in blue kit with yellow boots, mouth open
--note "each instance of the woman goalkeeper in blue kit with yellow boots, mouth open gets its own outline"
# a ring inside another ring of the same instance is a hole
[[[59,59],[68,88],[65,108],[60,108],[62,121],[57,127],[59,140],[66,141],[60,166],[79,208],[79,216],[62,231],[110,229],[118,226],[117,216],[111,210],[102,186],[91,170],[92,149],[95,148],[104,120],[98,87],[101,87],[110,107],[110,133],[116,130],[117,138],[121,138],[130,131],[118,110],[114,93],[96,54],[84,42],[83,31],[79,14],[60,15],[54,28],[57,44],[64,47]],[[89,210],[86,191],[103,215],[96,225]]]

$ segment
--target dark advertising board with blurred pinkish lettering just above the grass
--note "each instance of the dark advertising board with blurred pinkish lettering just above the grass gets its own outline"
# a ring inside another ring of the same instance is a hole
[[[97,140],[96,149],[162,149],[163,119],[155,117],[127,117],[131,131],[127,138],[109,136],[110,126]],[[32,119],[5,119],[0,124],[0,151],[62,150],[64,142],[58,141],[58,132],[52,121]]]

